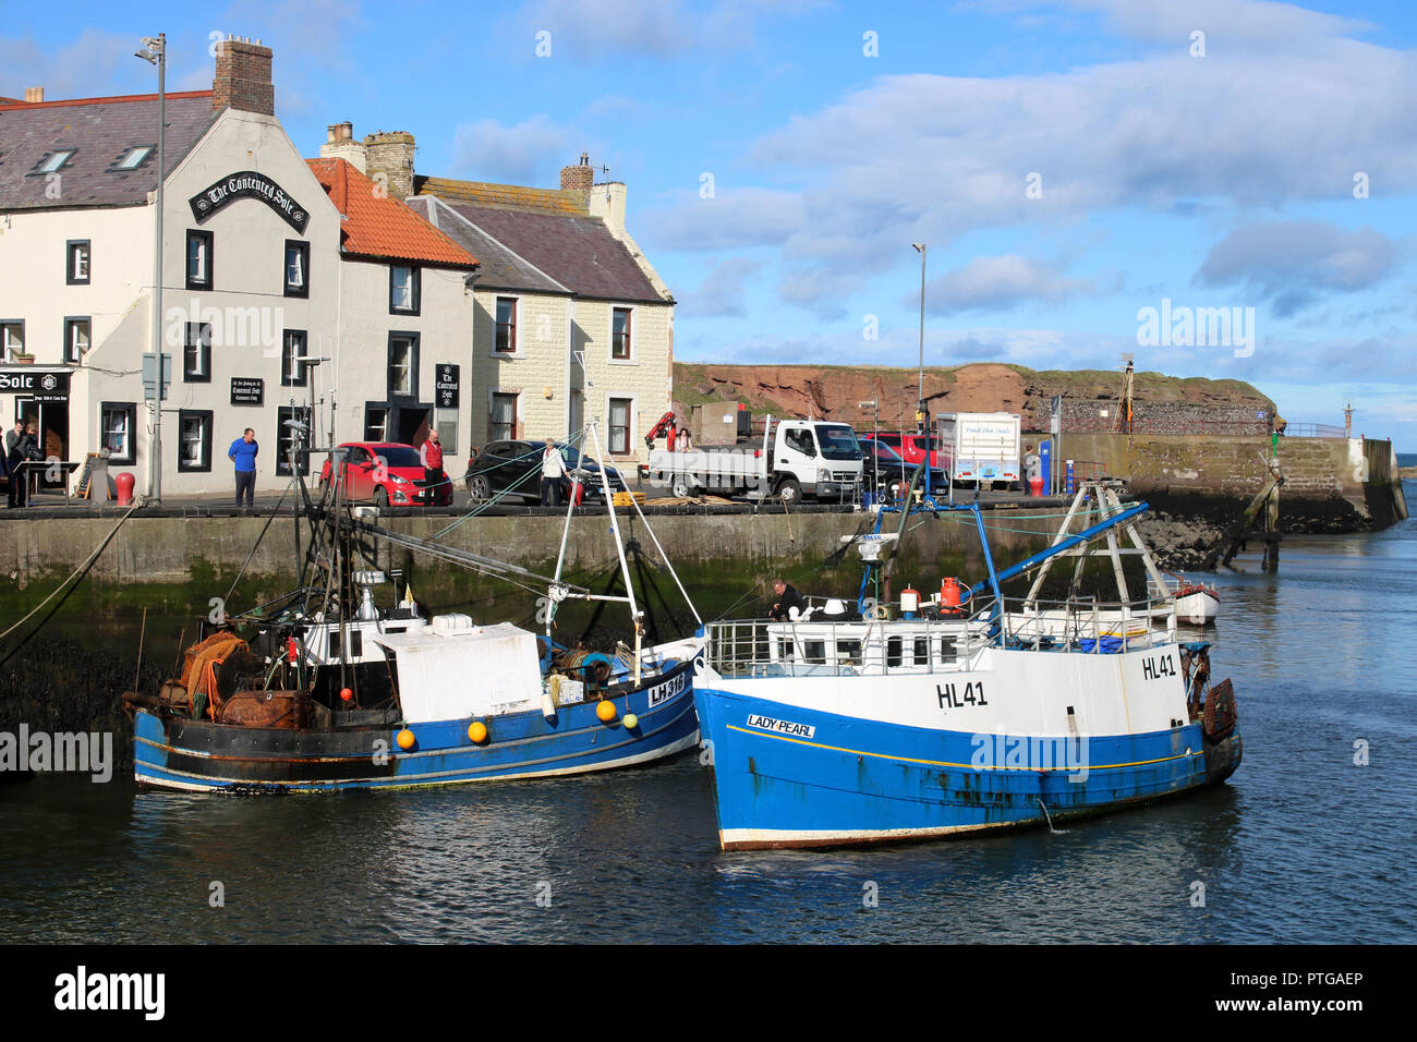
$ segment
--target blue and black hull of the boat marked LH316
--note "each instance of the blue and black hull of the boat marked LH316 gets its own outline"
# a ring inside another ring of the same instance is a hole
[[[547,778],[612,770],[673,756],[699,743],[693,663],[614,699],[616,719],[602,723],[598,702],[540,712],[478,717],[489,737],[468,737],[468,720],[411,723],[412,749],[400,729],[264,729],[135,715],[135,778],[140,785],[237,792],[322,792],[349,788],[425,788],[476,781]],[[636,715],[633,730],[623,726]]]

